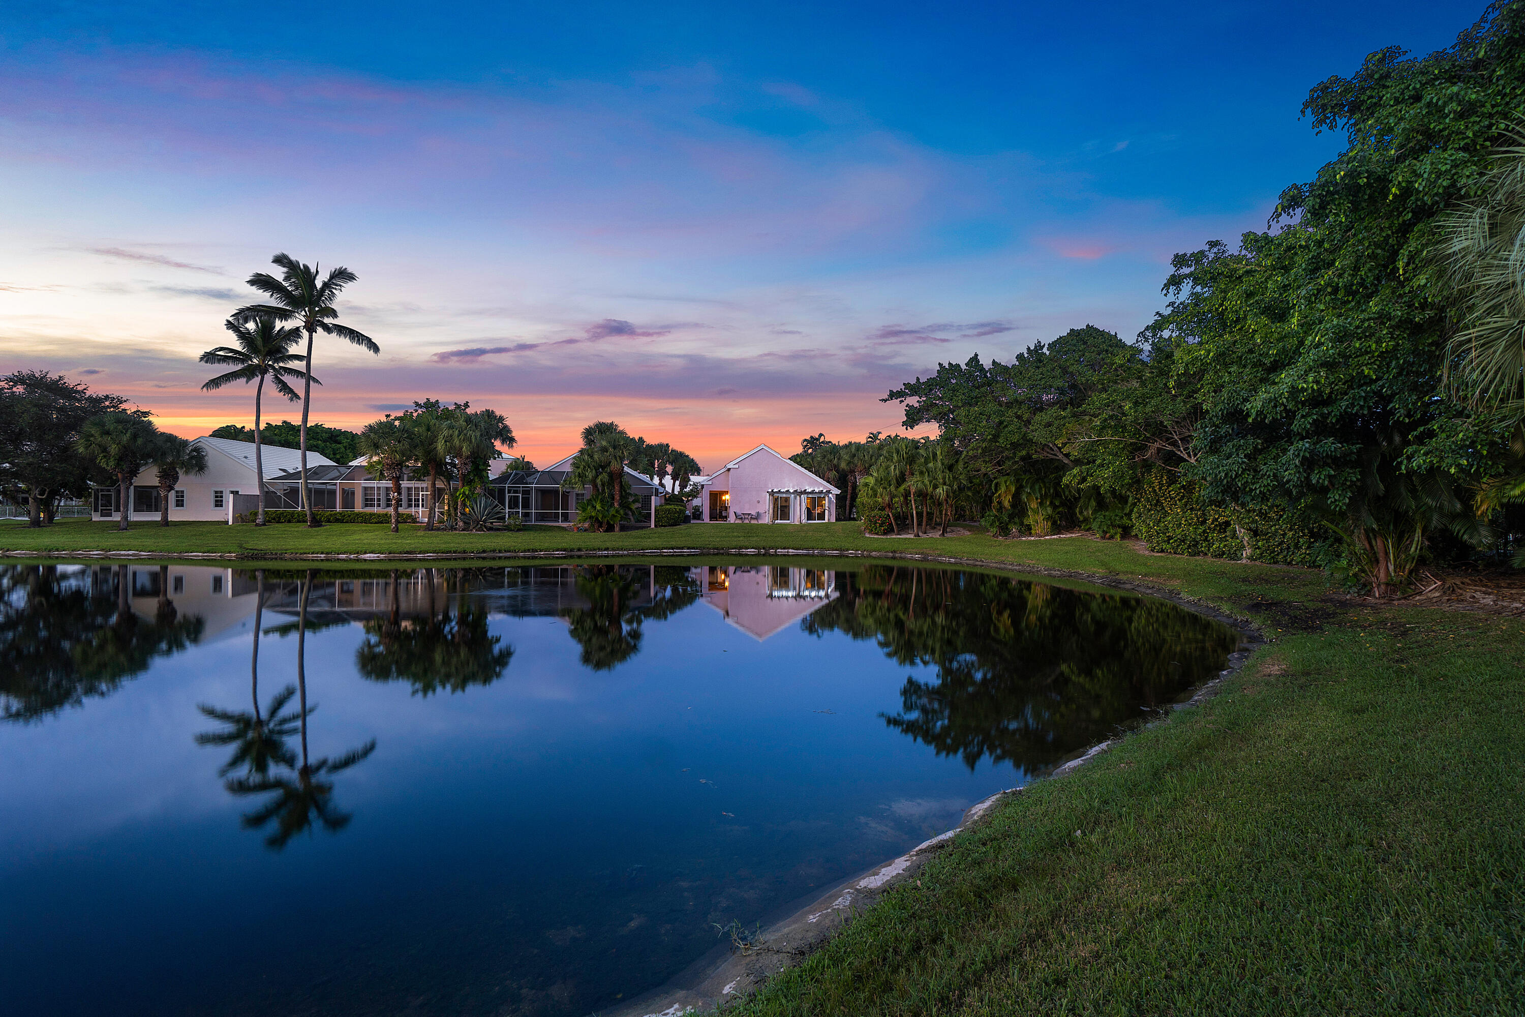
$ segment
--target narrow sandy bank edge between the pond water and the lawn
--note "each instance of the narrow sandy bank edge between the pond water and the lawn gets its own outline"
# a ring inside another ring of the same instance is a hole
[[[830,550],[830,549],[787,549],[787,547],[645,547],[630,550],[525,550],[525,552],[465,552],[465,553],[209,553],[186,552],[180,555],[140,552],[140,550],[0,550],[0,558],[125,558],[125,560],[177,560],[177,561],[241,561],[255,566],[261,561],[467,561],[467,560],[544,560],[544,558],[644,558],[644,557],[685,557],[685,558],[724,558],[730,555],[796,555],[811,558],[877,558],[891,561],[920,561],[927,564],[970,566],[979,569],[996,569],[1017,575],[1045,576],[1052,579],[1075,579],[1090,582],[1125,593],[1151,596],[1170,601],[1193,613],[1203,614],[1217,622],[1223,622],[1241,636],[1240,648],[1229,654],[1228,668],[1214,679],[1202,683],[1185,701],[1176,703],[1176,709],[1197,706],[1211,698],[1222,688],[1225,679],[1237,672],[1250,654],[1266,642],[1260,627],[1246,618],[1229,614],[1217,605],[1197,598],[1185,596],[1156,585],[1153,582],[1138,582],[1122,576],[1096,575],[1075,569],[1049,569],[1037,564],[1019,564],[1011,561],[990,561],[987,558],[970,558],[964,555],[935,555],[921,552],[897,550]],[[1153,721],[1153,724],[1168,723],[1168,717]],[[1054,773],[1040,779],[1054,779],[1074,773],[1092,758],[1110,749],[1119,738],[1132,732],[1119,733],[1113,738],[1090,746],[1075,758],[1061,764]],[[726,1003],[743,999],[750,991],[759,988],[769,977],[785,967],[799,964],[813,950],[839,932],[854,915],[868,910],[884,895],[886,890],[915,878],[917,872],[942,848],[947,848],[953,837],[976,823],[982,822],[990,810],[1002,800],[1020,794],[1022,788],[997,791],[990,797],[971,805],[959,820],[958,826],[930,840],[920,843],[906,854],[891,858],[852,875],[828,890],[819,893],[810,904],[788,913],[785,918],[770,922],[759,935],[753,936],[756,945],[734,947],[729,956],[718,961],[714,951],[700,958],[688,970],[679,973],[666,985],[644,993],[633,1000],[621,1003],[615,1009],[596,1011],[601,1017],[682,1017],[721,1009]]]

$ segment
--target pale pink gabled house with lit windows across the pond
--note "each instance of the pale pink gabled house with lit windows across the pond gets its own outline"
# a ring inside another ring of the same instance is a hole
[[[767,445],[737,456],[703,480],[706,523],[833,523],[837,488]]]

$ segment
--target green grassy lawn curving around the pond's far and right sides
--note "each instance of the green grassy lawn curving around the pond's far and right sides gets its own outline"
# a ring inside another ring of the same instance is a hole
[[[737,1014],[1525,1012],[1525,619],[1086,538],[0,528],[0,549],[851,549],[1125,576],[1255,619],[1217,698],[1037,782]]]

